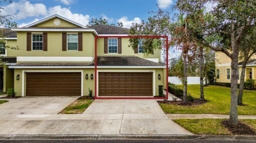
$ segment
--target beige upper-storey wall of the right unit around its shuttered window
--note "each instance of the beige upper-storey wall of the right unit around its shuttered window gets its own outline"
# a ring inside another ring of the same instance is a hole
[[[121,45],[122,45],[122,51],[121,54],[104,54],[104,38],[98,38],[97,39],[97,55],[135,55],[141,58],[158,58],[159,61],[161,61],[161,49],[154,50],[154,54],[143,54],[143,53],[137,53],[134,54],[134,50],[132,47],[128,47],[129,45],[129,38],[122,38],[121,39]]]

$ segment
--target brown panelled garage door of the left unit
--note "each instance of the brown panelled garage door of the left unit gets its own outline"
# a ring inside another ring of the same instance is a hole
[[[26,96],[80,96],[81,73],[26,73]]]

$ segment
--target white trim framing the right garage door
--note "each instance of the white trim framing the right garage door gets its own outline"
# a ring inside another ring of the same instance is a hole
[[[97,76],[96,76],[96,86],[97,86],[97,95],[96,95],[96,97],[98,97],[98,92],[99,92],[99,89],[98,89],[98,73],[99,72],[151,72],[151,73],[153,73],[153,81],[152,81],[152,83],[153,83],[153,96],[155,96],[155,70],[97,70]]]

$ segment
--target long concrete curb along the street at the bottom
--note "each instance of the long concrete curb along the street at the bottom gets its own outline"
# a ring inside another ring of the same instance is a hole
[[[208,140],[208,141],[256,141],[256,136],[215,135],[0,135],[0,140],[51,140],[51,139],[162,139],[162,140]]]

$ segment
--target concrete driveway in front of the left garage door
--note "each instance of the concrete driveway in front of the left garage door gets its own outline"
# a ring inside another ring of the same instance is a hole
[[[57,114],[78,96],[21,97],[0,104],[0,114]]]

